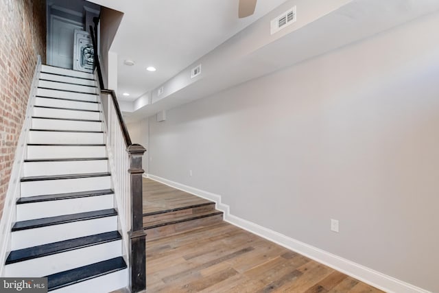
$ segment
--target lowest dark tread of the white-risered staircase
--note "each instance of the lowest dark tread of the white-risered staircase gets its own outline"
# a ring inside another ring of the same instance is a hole
[[[47,277],[49,291],[60,289],[68,285],[87,281],[96,277],[117,272],[126,268],[126,263],[123,257],[115,257],[106,261],[99,261],[88,266],[74,268],[72,270],[65,270],[64,272],[57,272],[50,274]]]

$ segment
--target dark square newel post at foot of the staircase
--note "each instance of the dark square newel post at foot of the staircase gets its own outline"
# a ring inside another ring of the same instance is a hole
[[[139,144],[128,147],[131,177],[131,231],[130,231],[130,288],[131,292],[146,290],[146,251],[143,232],[142,156],[145,148]]]

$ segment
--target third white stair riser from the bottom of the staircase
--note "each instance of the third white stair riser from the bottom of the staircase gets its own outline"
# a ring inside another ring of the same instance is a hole
[[[117,231],[116,215],[14,231],[11,236],[11,249],[17,250],[110,231]]]

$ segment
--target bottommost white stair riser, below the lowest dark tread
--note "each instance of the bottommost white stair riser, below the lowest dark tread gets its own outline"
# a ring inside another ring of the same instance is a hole
[[[117,272],[112,272],[110,274],[104,274],[101,277],[89,279],[80,283],[75,283],[73,285],[51,291],[51,293],[85,293],[91,292],[91,290],[93,290],[93,293],[108,293],[126,288],[127,286],[128,268],[118,270]]]

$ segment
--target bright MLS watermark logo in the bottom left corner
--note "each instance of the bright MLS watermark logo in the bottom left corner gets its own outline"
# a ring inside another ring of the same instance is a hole
[[[0,293],[47,293],[47,278],[0,278]]]

